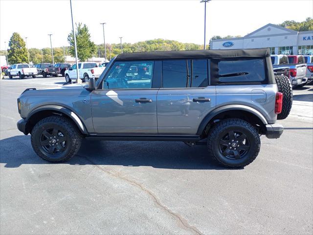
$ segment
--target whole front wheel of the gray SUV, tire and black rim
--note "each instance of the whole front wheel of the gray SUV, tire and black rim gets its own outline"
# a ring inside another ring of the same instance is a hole
[[[79,150],[82,136],[67,118],[51,116],[41,119],[31,132],[36,154],[48,162],[65,162]]]

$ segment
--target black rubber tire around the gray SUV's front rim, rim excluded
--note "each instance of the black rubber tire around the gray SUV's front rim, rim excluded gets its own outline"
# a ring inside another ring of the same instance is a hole
[[[64,152],[55,154],[55,156],[45,153],[40,144],[42,131],[45,128],[58,128],[68,136],[67,147]],[[31,132],[31,144],[36,154],[48,162],[60,163],[66,162],[73,157],[79,150],[82,142],[82,135],[77,127],[67,118],[61,116],[50,116],[41,119]]]

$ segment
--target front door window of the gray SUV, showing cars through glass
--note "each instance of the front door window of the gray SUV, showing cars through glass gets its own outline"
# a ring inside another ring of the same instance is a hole
[[[115,62],[104,78],[104,89],[149,89],[154,61]]]

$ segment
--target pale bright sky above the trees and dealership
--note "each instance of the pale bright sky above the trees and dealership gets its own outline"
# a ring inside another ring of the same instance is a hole
[[[313,17],[313,0],[212,0],[206,6],[207,44],[213,35],[245,36],[268,23]],[[200,0],[72,0],[72,9],[74,22],[89,27],[95,44],[103,43],[103,22],[106,43],[123,37],[123,43],[163,38],[203,44]],[[71,29],[69,0],[0,0],[0,49],[13,32],[27,37],[28,48],[50,47],[47,34],[53,34],[53,47],[68,46]]]

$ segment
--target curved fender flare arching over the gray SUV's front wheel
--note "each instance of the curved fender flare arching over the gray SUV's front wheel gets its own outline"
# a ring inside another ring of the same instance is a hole
[[[60,105],[44,105],[44,106],[40,106],[34,110],[32,110],[28,117],[25,119],[26,123],[28,122],[29,119],[31,119],[31,117],[41,111],[45,111],[45,110],[52,110],[52,111],[57,111],[59,113],[62,113],[64,115],[66,115],[67,117],[71,118],[75,124],[77,125],[78,129],[83,133],[83,134],[88,134],[86,127],[84,126],[82,120],[70,109],[60,106]]]

